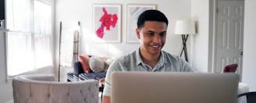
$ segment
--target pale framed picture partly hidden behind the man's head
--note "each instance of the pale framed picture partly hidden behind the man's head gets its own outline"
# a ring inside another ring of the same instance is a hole
[[[135,31],[137,28],[137,19],[140,13],[148,9],[156,9],[156,5],[127,5],[126,43],[139,43]]]

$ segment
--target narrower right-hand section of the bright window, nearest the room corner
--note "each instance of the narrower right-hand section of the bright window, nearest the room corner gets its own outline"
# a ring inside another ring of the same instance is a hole
[[[35,2],[35,7],[35,67],[41,68],[52,64],[52,9],[43,2]]]

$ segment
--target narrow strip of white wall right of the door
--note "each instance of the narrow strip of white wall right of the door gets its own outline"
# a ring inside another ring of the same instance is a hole
[[[242,81],[250,86],[250,91],[256,91],[256,1],[245,0],[244,3],[244,62]]]

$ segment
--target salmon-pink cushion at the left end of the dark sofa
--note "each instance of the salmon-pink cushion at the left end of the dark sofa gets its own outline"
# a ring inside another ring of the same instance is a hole
[[[83,70],[85,73],[89,73],[91,71],[90,67],[89,67],[89,57],[84,54],[84,55],[79,55],[78,56],[78,60],[80,61],[81,63],[81,66],[83,67]]]

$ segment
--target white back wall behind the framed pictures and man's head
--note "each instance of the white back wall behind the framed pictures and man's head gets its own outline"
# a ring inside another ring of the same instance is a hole
[[[82,37],[80,53],[99,56],[122,56],[137,50],[139,43],[126,43],[126,5],[127,4],[155,4],[157,9],[164,12],[169,19],[167,42],[163,50],[178,54],[181,50],[181,36],[174,35],[176,19],[190,18],[190,0],[57,0],[56,1],[56,35],[59,35],[59,22],[63,29],[72,29],[77,22],[81,22]],[[120,4],[122,5],[122,42],[121,43],[93,43],[92,35],[92,5]],[[134,31],[134,35],[135,31]],[[59,38],[58,38],[59,39]],[[56,41],[58,42],[58,41]],[[189,44],[188,44],[189,45]],[[59,46],[57,43],[56,46]],[[58,51],[58,50],[56,50]]]

